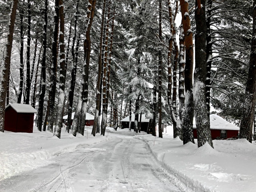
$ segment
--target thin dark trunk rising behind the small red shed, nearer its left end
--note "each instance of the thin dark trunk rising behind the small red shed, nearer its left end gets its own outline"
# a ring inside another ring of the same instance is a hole
[[[23,34],[23,14],[24,11],[20,9],[20,87],[18,92],[17,103],[21,103],[21,97],[23,92],[23,76],[24,76],[24,63],[23,63],[23,50],[24,50],[24,34]]]

